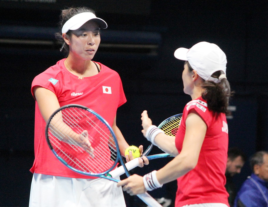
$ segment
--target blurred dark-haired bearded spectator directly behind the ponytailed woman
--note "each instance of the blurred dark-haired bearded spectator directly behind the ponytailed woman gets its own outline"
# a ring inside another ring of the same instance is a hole
[[[236,186],[234,185],[232,178],[235,174],[241,172],[241,168],[247,160],[245,153],[237,147],[232,147],[228,150],[228,158],[226,165],[226,185],[225,188],[229,193],[228,202],[230,207],[234,205],[234,199],[237,193]]]

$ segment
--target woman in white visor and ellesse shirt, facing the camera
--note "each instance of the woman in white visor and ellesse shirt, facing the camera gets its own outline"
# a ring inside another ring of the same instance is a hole
[[[36,100],[35,160],[30,170],[34,176],[29,206],[125,206],[123,192],[115,182],[75,173],[61,164],[46,143],[44,129],[51,114],[61,106],[80,104],[96,111],[112,126],[122,153],[129,147],[116,126],[116,110],[126,102],[121,79],[114,70],[91,61],[99,47],[99,30],[107,27],[106,22],[86,7],[70,8],[62,11],[60,27],[57,36],[67,58],[32,82]]]

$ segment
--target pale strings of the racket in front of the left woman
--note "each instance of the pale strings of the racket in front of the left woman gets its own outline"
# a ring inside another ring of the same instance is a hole
[[[55,116],[57,120],[53,121],[53,126],[49,125],[49,140],[56,154],[68,165],[84,172],[101,173],[109,170],[117,159],[117,152],[108,127],[84,109],[66,108],[60,115]],[[85,142],[77,142],[71,138],[74,134],[85,134],[85,130],[94,148],[94,157],[84,149]],[[69,131],[72,133],[66,137],[66,132]]]

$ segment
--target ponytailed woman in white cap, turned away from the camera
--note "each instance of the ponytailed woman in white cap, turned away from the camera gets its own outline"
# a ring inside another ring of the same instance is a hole
[[[176,137],[165,135],[142,113],[144,136],[174,159],[158,171],[132,175],[118,186],[131,195],[162,187],[177,179],[175,206],[226,207],[228,193],[225,169],[228,149],[229,82],[226,55],[215,44],[199,42],[190,49],[179,48],[174,56],[185,60],[184,93],[191,96],[184,108]]]

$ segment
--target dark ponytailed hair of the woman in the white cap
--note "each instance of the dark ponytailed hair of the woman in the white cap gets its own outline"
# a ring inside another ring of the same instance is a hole
[[[194,69],[191,67],[188,61],[185,61],[184,64],[188,65],[189,72]],[[222,70],[218,70],[211,75],[213,78],[219,78],[221,74],[224,74]],[[200,77],[201,78],[201,77]],[[202,98],[207,101],[208,109],[216,113],[225,113],[230,115],[228,110],[229,98],[233,95],[231,91],[229,81],[226,78],[222,78],[221,82],[215,83],[210,80],[204,80],[202,83],[202,88],[206,89],[202,93]]]

